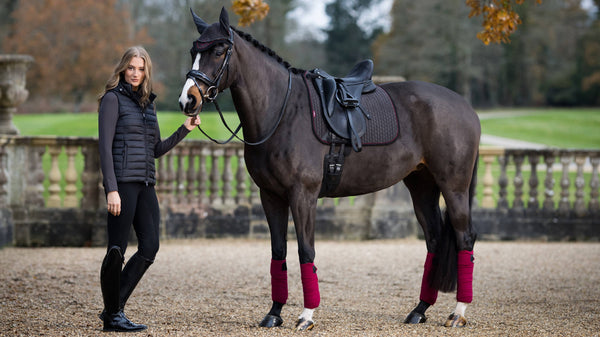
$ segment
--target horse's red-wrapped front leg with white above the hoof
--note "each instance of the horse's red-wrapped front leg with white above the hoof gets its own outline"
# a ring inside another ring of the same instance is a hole
[[[304,293],[304,310],[298,317],[296,330],[310,330],[314,327],[313,312],[319,306],[319,280],[315,267],[315,218],[317,213],[317,194],[306,190],[295,193],[290,201],[292,217],[298,240],[300,274]]]

